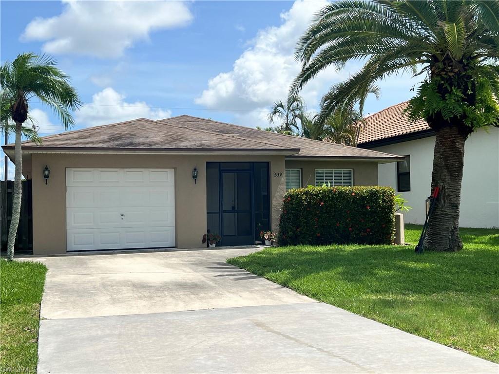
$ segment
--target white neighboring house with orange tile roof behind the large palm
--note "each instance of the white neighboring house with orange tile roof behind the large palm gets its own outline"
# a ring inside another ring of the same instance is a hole
[[[391,186],[413,209],[406,223],[424,223],[425,200],[430,194],[435,133],[426,121],[411,123],[402,113],[407,102],[366,118],[358,147],[406,157],[399,163],[379,165],[378,184]],[[487,127],[465,143],[461,189],[462,227],[499,227],[499,129]]]

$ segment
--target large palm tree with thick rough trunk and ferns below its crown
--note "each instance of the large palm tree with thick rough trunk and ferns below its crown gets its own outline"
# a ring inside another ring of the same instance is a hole
[[[362,110],[367,87],[404,71],[424,74],[411,99],[410,120],[424,118],[436,132],[432,184],[441,192],[428,222],[424,249],[456,251],[464,145],[477,128],[499,126],[499,0],[362,1],[324,6],[299,39],[302,69],[290,95],[318,72],[350,60],[364,66],[324,102],[322,116]]]

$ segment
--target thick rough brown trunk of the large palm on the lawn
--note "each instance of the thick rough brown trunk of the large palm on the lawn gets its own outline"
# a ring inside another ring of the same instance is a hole
[[[433,215],[423,243],[425,250],[459,251],[463,241],[459,236],[459,205],[465,156],[466,136],[457,126],[437,132],[433,156],[432,190],[440,187]]]

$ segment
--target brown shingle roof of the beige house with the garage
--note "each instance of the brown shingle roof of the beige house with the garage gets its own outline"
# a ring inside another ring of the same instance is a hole
[[[13,144],[2,147],[13,149]],[[132,121],[69,131],[42,138],[42,144],[23,142],[25,151],[140,150],[140,151],[264,151],[291,157],[396,159],[390,155],[340,144],[269,133],[198,117],[179,116]]]

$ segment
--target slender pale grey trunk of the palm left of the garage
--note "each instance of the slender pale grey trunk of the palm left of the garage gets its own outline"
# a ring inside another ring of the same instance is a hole
[[[15,175],[14,191],[12,196],[12,215],[10,228],[8,230],[7,240],[7,260],[14,258],[14,244],[17,234],[17,225],[19,224],[19,214],[21,212],[21,174],[22,174],[22,156],[21,156],[21,123],[15,124]]]

